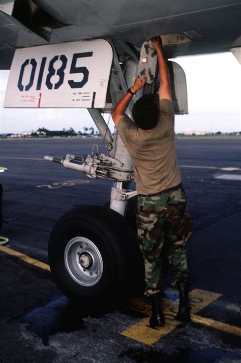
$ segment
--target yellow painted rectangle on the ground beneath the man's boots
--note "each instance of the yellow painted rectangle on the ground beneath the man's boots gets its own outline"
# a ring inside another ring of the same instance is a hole
[[[221,294],[215,292],[209,292],[200,289],[194,289],[190,293],[190,304],[192,314],[197,313],[211,302],[217,300]],[[150,305],[146,304],[145,299],[133,299],[128,307],[132,310],[150,315]],[[175,320],[175,316],[178,310],[178,299],[168,300],[162,299],[162,308],[165,315],[166,324],[163,327],[157,327],[155,329],[149,327],[149,317],[139,321],[137,324],[130,326],[128,329],[122,331],[120,334],[134,339],[138,342],[151,345],[164,337],[170,331],[172,331],[177,325],[182,322]]]

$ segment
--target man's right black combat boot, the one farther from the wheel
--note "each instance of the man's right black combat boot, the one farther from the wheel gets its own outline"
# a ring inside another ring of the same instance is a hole
[[[188,296],[188,282],[178,281],[176,288],[179,290],[179,307],[178,313],[176,314],[176,320],[179,321],[190,321],[190,305]]]

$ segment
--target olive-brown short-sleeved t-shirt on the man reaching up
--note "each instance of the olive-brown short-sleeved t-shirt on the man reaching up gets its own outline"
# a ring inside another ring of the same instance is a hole
[[[139,194],[155,194],[181,182],[170,100],[160,101],[159,122],[152,131],[138,128],[126,117],[119,120],[117,130],[131,156]]]

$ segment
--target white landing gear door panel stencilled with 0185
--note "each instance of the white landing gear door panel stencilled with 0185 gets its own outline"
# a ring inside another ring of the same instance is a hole
[[[104,108],[112,59],[104,39],[17,49],[4,107]]]

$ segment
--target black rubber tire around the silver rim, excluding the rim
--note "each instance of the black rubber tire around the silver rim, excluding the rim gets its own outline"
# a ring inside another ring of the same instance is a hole
[[[65,248],[77,236],[90,239],[103,259],[101,279],[93,286],[75,282],[65,265]],[[123,298],[143,268],[135,232],[122,216],[101,206],[80,206],[59,219],[50,234],[48,256],[59,289],[75,302]]]

